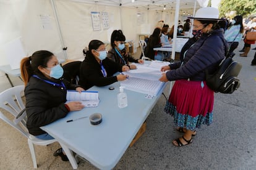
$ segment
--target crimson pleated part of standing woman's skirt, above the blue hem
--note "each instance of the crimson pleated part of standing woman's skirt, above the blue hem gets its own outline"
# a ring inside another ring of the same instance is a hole
[[[213,111],[214,91],[205,81],[177,80],[174,83],[169,103],[172,103],[177,113],[193,118],[200,115],[205,117]]]

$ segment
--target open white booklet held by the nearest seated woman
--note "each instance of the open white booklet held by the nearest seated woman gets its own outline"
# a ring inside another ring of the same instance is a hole
[[[79,101],[82,102],[85,107],[97,107],[99,105],[99,93],[98,91],[67,91],[67,102]]]

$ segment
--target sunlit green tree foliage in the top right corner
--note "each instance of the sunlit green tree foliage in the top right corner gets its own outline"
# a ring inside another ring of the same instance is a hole
[[[221,0],[219,10],[220,17],[233,18],[234,15],[247,16],[255,12],[255,0]],[[236,11],[232,13],[231,11]]]

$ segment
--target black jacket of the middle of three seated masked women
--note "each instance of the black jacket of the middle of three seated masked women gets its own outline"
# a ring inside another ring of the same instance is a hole
[[[108,58],[102,60],[102,64],[107,73],[106,77],[101,72],[100,63],[92,54],[87,54],[80,66],[79,84],[85,89],[89,89],[92,86],[107,86],[115,83],[117,78],[113,75],[117,71],[122,72],[122,65]]]

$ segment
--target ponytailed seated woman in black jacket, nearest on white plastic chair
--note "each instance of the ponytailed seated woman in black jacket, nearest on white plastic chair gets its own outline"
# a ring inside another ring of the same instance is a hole
[[[63,69],[58,59],[49,51],[36,51],[20,62],[20,72],[25,83],[27,111],[27,128],[30,134],[38,139],[54,139],[41,126],[64,118],[69,111],[81,110],[81,102],[66,102],[67,89],[84,91],[80,86],[69,84],[62,79]],[[68,158],[59,148],[54,156],[61,156],[62,161]]]

